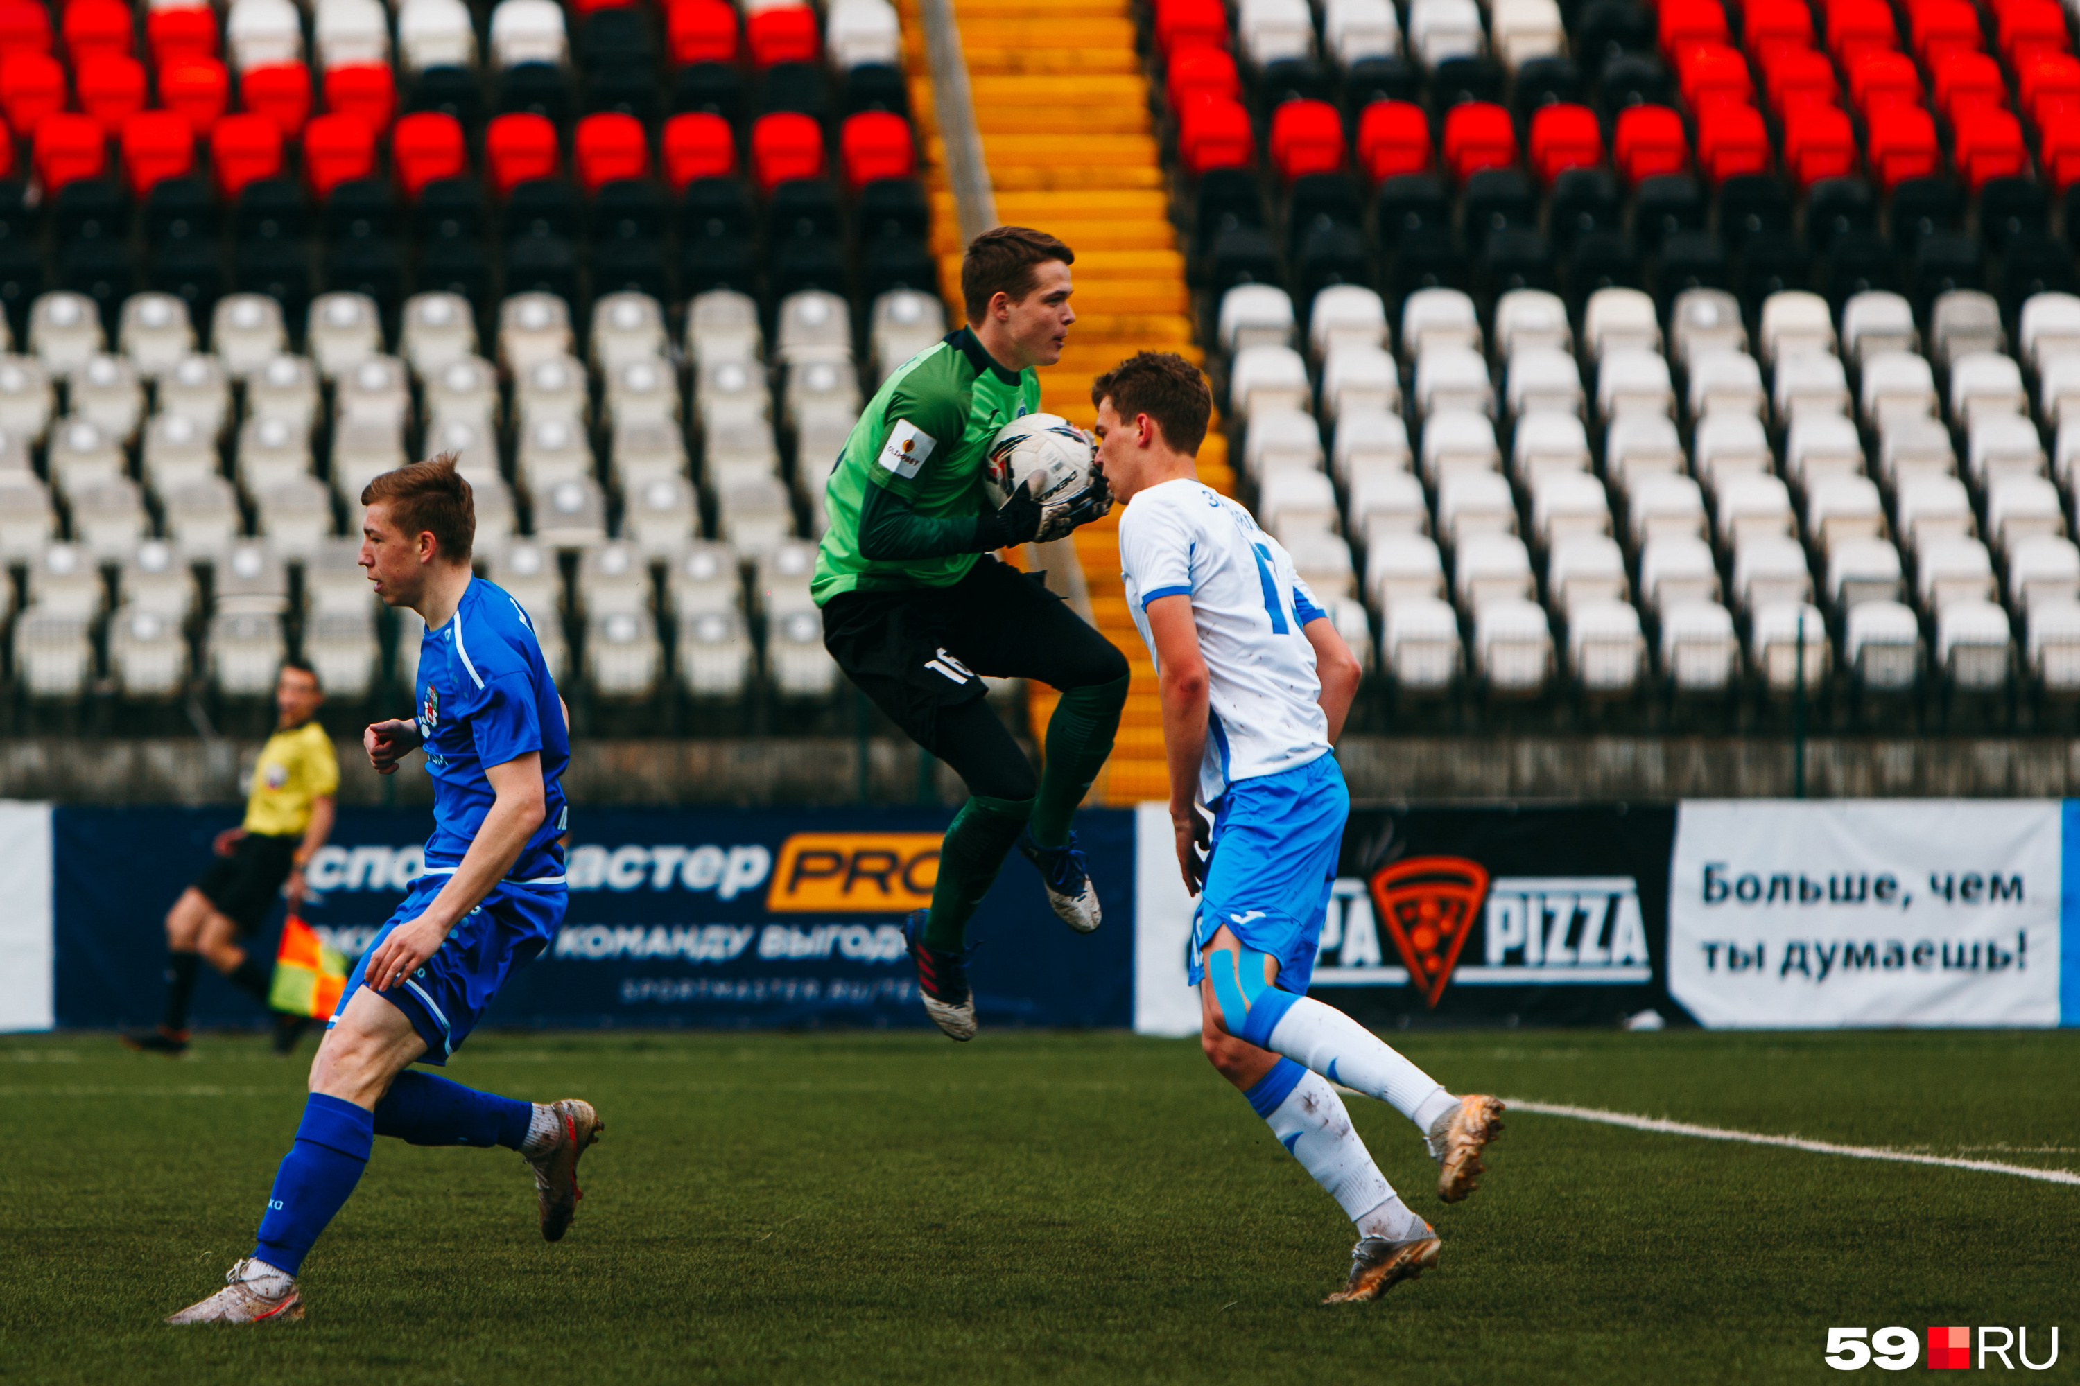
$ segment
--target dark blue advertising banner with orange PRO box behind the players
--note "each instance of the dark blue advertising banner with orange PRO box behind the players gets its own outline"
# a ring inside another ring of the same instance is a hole
[[[570,912],[489,1024],[928,1024],[903,918],[930,902],[942,808],[584,810],[572,815]],[[208,867],[235,810],[54,812],[54,991],[60,1027],[152,1024],[164,914]],[[304,918],[354,956],[420,873],[424,812],[347,808],[312,860]],[[1132,1022],[1134,815],[1077,819],[1107,925],[1075,935],[1017,856],[969,939],[984,1024]],[[272,956],[283,910],[252,945]],[[204,968],[193,1022],[258,1024]]]

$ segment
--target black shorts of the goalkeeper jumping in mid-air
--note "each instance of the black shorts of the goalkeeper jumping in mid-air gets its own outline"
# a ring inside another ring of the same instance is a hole
[[[1127,657],[1111,640],[1038,576],[994,555],[944,588],[838,592],[824,603],[824,648],[934,754],[940,709],[982,698],[984,673],[1055,688],[1127,677]]]

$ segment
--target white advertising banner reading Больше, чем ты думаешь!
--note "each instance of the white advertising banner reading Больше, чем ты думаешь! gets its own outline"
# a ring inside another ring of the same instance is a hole
[[[2055,800],[1676,812],[1668,993],[1706,1027],[2059,1022]]]

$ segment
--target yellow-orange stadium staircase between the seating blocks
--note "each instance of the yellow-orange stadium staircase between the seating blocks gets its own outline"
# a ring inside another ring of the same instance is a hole
[[[1127,0],[955,0],[976,125],[996,199],[996,220],[1048,231],[1075,249],[1075,314],[1059,366],[1040,372],[1042,407],[1082,426],[1096,409],[1090,382],[1136,351],[1177,351],[1192,362],[1192,297],[1169,220],[1169,185],[1148,114],[1148,77],[1134,48]],[[903,4],[911,104],[926,133],[932,241],[946,303],[961,303],[961,233],[932,104],[917,0]],[[1227,495],[1233,474],[1215,428],[1200,476]],[[1134,665],[1119,742],[1094,802],[1169,798],[1154,665],[1119,582],[1119,513],[1075,534],[1092,619]],[[1042,740],[1055,692],[1028,694]]]

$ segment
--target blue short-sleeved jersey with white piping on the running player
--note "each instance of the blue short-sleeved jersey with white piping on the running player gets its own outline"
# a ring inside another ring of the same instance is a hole
[[[547,815],[505,879],[562,881],[564,852],[555,839],[570,825],[562,785],[570,731],[535,625],[503,588],[472,578],[456,615],[426,632],[418,646],[416,717],[433,775],[426,873],[451,873],[476,839],[497,798],[485,767],[539,750]]]

